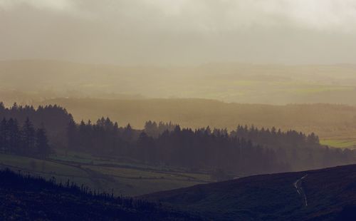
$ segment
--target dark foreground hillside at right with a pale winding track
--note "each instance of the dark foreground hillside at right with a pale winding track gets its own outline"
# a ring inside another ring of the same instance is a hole
[[[356,165],[256,175],[143,198],[212,220],[356,220]]]

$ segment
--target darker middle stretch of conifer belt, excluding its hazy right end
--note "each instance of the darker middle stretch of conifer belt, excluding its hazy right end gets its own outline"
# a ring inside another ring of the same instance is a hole
[[[145,130],[133,130],[130,125],[119,128],[109,118],[95,124],[82,121],[76,125],[71,121],[68,148],[96,155],[125,156],[155,165],[224,168],[234,173],[266,173],[289,168],[287,163],[278,162],[273,150],[253,145],[244,138],[229,137],[224,130],[212,134],[206,129],[181,129],[176,125],[174,130],[165,130],[155,138]]]

